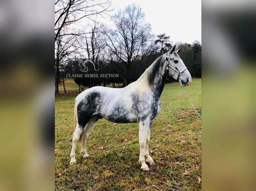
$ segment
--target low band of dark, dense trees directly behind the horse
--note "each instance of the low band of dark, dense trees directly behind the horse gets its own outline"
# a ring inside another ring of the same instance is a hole
[[[201,45],[199,42],[191,44],[179,44],[182,47],[179,55],[184,64],[188,68],[192,77],[201,78]],[[164,50],[168,51],[168,50]],[[93,86],[113,86],[120,84],[121,86],[127,85],[127,79],[130,82],[136,81],[141,74],[148,68],[161,54],[161,51],[151,52],[143,58],[138,58],[131,64],[130,76],[127,76],[127,67],[124,63],[110,60],[110,61],[97,61],[95,65],[86,62],[88,59],[76,59],[67,62],[67,66],[63,68],[60,73],[61,84],[65,83],[68,77],[73,77],[75,82],[79,85],[79,91],[84,88]],[[86,69],[87,72],[82,70]],[[73,76],[72,76],[73,74]],[[76,77],[82,76],[82,77]],[[106,74],[112,74],[105,77]],[[113,75],[114,74],[114,75]],[[168,79],[166,82],[171,82],[173,79]],[[65,87],[65,84],[64,84]]]

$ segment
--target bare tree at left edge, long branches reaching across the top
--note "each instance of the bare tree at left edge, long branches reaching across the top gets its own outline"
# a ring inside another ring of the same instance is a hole
[[[78,38],[90,33],[85,32],[86,29],[72,30],[72,24],[83,19],[93,20],[110,6],[110,0],[55,0],[55,94],[58,94],[61,65],[81,48],[82,45],[77,44]]]

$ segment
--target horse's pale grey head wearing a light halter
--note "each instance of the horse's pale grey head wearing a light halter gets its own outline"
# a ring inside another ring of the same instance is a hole
[[[191,75],[183,61],[179,58],[180,49],[175,50],[176,45],[168,51],[166,55],[167,70],[170,77],[174,78],[182,86],[187,86],[191,82]]]

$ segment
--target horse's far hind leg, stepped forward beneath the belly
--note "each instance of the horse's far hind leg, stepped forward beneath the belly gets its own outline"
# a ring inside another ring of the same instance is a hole
[[[93,116],[89,122],[87,123],[87,125],[85,126],[85,130],[83,131],[83,136],[82,136],[82,146],[81,146],[81,154],[83,154],[83,158],[88,158],[89,154],[87,154],[87,150],[86,150],[86,140],[90,134],[90,132],[92,131],[92,129],[95,126],[95,123],[99,120],[99,116],[95,115]]]

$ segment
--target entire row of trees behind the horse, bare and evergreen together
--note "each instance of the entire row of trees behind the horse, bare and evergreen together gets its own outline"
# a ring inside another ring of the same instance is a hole
[[[88,2],[90,5],[86,4]],[[96,22],[92,15],[109,11],[111,4],[109,0],[104,4],[97,2],[77,0],[74,4],[73,1],[59,0],[55,3],[55,10],[58,10],[55,12],[55,94],[58,94],[59,84],[66,92],[68,74],[87,74],[87,77],[74,78],[79,91],[80,88],[99,85],[127,86],[174,45],[170,36],[151,34],[151,26],[145,22],[141,7],[135,4],[111,16],[112,27]],[[102,10],[95,11],[98,10],[96,8]],[[86,17],[79,17],[81,10]],[[72,27],[84,18],[94,20],[85,27],[87,31]],[[176,45],[177,48],[182,47],[179,55],[191,76],[200,78],[201,44],[195,41],[193,44]],[[117,75],[95,77],[97,74]]]

